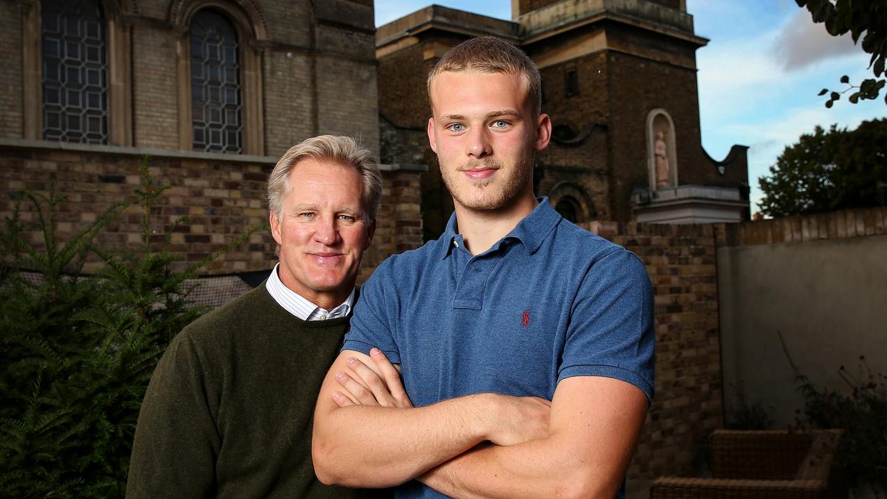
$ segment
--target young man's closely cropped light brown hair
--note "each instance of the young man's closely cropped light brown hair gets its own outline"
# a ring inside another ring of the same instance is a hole
[[[542,109],[542,77],[536,64],[523,51],[495,36],[478,36],[456,45],[437,61],[428,74],[428,102],[431,83],[444,72],[480,71],[521,75],[534,115]]]

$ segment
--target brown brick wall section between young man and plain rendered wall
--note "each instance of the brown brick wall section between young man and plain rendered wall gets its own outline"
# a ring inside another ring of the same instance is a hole
[[[655,400],[628,479],[692,475],[723,424],[714,228],[584,226],[638,255],[655,293]]]

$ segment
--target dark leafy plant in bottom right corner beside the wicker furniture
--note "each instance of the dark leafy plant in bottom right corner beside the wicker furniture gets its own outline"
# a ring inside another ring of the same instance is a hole
[[[838,369],[850,393],[820,389],[807,376],[798,375],[804,394],[802,427],[842,428],[839,459],[852,487],[867,482],[887,492],[887,376],[875,374],[860,357],[856,374]]]

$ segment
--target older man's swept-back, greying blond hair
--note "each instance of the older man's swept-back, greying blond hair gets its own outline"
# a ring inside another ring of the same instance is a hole
[[[366,218],[376,219],[382,197],[382,176],[373,153],[361,147],[354,139],[339,135],[319,135],[305,139],[290,147],[268,177],[268,209],[278,218],[283,211],[284,198],[289,193],[289,174],[299,162],[313,159],[318,162],[334,162],[357,170],[364,180],[362,202]]]

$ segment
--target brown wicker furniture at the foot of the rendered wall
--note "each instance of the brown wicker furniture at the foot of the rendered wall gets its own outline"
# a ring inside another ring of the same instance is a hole
[[[710,437],[713,478],[661,477],[650,487],[650,497],[846,499],[835,466],[841,434],[718,430]]]

